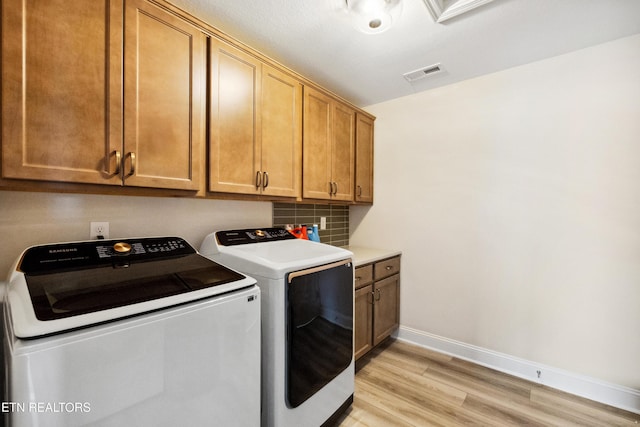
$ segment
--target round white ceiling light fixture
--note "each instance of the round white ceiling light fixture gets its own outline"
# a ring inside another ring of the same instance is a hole
[[[402,12],[402,0],[345,0],[353,26],[365,34],[391,28]]]

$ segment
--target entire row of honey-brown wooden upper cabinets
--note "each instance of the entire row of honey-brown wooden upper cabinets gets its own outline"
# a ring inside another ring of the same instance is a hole
[[[3,186],[371,200],[372,123],[164,0],[0,8]]]

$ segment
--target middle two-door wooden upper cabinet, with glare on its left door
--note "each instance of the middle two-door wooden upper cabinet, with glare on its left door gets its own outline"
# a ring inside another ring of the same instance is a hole
[[[210,46],[209,190],[298,197],[301,84],[228,43]]]

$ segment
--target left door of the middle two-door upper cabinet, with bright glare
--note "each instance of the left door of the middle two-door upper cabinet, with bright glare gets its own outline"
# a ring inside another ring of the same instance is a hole
[[[260,62],[216,39],[210,62],[209,190],[258,194]]]

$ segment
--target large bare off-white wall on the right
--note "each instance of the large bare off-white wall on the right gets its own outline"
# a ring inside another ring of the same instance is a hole
[[[367,110],[401,326],[640,390],[640,35]]]

